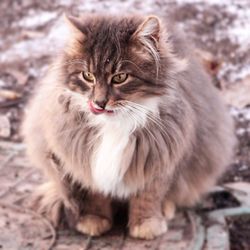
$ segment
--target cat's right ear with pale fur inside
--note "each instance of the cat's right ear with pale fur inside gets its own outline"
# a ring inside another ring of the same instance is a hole
[[[144,22],[139,25],[135,33],[133,34],[134,39],[138,39],[142,44],[151,41],[156,47],[161,35],[161,22],[156,16],[148,16]]]

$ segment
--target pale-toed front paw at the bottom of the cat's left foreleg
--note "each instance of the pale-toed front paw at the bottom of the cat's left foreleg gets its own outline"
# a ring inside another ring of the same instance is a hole
[[[77,231],[91,236],[100,236],[112,227],[110,220],[98,215],[87,214],[80,218],[76,225]]]

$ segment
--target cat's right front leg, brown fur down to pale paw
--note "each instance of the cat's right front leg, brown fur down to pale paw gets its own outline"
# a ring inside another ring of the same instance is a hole
[[[129,233],[132,237],[150,240],[167,231],[162,213],[162,187],[162,182],[155,180],[149,188],[130,199]]]

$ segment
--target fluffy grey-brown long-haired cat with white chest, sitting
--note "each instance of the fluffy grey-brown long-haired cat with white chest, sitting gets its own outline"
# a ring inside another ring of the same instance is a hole
[[[233,122],[174,25],[65,19],[70,37],[23,123],[27,153],[48,178],[35,207],[54,225],[65,210],[78,231],[98,236],[112,227],[112,201],[127,201],[129,234],[154,239],[226,170]]]

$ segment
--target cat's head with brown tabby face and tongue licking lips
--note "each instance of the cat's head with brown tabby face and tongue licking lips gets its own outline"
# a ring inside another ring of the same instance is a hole
[[[157,17],[90,15],[67,22],[71,37],[62,60],[63,85],[72,100],[107,119],[157,111],[173,66]]]

